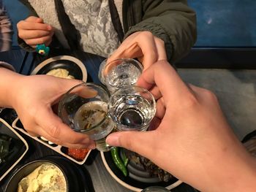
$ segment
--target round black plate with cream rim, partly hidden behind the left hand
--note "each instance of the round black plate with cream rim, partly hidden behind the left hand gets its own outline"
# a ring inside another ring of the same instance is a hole
[[[66,69],[69,75],[75,77],[76,80],[87,80],[86,66],[78,58],[69,55],[59,55],[42,61],[31,74],[47,74],[53,69]]]

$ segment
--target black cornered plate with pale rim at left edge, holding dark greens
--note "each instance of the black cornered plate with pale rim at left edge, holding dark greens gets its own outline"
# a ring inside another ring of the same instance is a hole
[[[4,134],[12,138],[10,142],[11,153],[7,155],[7,157],[4,158],[4,162],[0,164],[0,177],[10,172],[11,167],[18,164],[20,157],[25,155],[28,150],[28,145],[25,144],[25,140],[21,140],[20,136],[18,137],[18,133],[12,130],[12,128],[9,128],[6,124],[7,123],[1,119],[0,134]]]

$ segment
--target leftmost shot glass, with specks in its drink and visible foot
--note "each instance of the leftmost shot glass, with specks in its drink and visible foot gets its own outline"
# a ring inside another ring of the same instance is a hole
[[[86,93],[92,89],[95,96],[88,97]],[[108,151],[110,146],[105,137],[115,127],[108,112],[108,92],[100,85],[83,82],[71,88],[59,102],[58,115],[74,131],[87,134],[96,142],[97,150]]]

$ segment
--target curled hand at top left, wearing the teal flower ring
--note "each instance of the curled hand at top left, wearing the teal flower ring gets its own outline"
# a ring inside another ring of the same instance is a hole
[[[36,47],[39,44],[50,45],[53,37],[53,27],[43,23],[41,18],[31,16],[26,20],[20,20],[17,23],[18,37],[23,39],[30,47]]]

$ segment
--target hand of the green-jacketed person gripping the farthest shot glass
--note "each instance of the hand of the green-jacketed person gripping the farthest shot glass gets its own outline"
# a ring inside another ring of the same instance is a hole
[[[108,58],[108,62],[117,58],[138,58],[144,69],[156,61],[166,60],[165,42],[150,31],[138,31],[129,35],[118,49]]]

